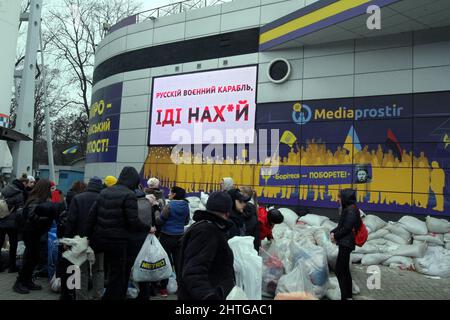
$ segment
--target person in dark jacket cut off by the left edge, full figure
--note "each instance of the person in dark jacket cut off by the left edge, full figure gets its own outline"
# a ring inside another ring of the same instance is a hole
[[[5,198],[10,211],[9,216],[0,219],[0,247],[3,245],[3,242],[5,242],[6,235],[8,235],[9,238],[9,273],[18,271],[16,267],[16,251],[18,243],[16,211],[19,207],[22,207],[27,200],[28,192],[25,189],[27,182],[27,178],[22,177],[13,180],[13,182],[1,190],[1,194]],[[3,271],[3,269],[3,266],[0,265],[0,271]]]

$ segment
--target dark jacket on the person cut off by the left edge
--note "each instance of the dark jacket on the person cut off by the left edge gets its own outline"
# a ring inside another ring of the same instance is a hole
[[[28,193],[23,183],[16,179],[4,187],[1,194],[5,198],[11,213],[9,216],[0,219],[0,229],[15,229],[17,227],[16,210],[25,204]]]

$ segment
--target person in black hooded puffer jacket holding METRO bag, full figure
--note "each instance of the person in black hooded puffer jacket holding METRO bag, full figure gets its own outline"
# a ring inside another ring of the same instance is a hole
[[[104,189],[93,205],[86,235],[95,252],[104,252],[108,264],[108,287],[103,299],[125,299],[129,274],[126,272],[127,242],[131,232],[150,231],[138,218],[140,177],[133,167],[123,168],[116,185]]]

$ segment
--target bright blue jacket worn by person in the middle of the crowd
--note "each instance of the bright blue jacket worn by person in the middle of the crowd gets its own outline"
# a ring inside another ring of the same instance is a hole
[[[182,235],[184,226],[189,223],[190,219],[189,203],[185,200],[171,200],[158,218],[158,224],[162,225],[162,233]]]

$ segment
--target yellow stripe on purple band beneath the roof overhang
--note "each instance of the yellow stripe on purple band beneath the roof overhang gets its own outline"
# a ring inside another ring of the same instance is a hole
[[[364,3],[368,3],[370,1],[371,0],[340,0],[338,2],[332,3],[326,7],[320,8],[319,10],[310,12],[302,17],[289,21],[272,30],[266,31],[265,33],[261,34],[259,38],[259,43],[260,44],[266,43],[273,39],[279,38],[285,34],[288,34],[292,31],[302,29],[313,23],[322,21],[326,18],[353,9],[357,6],[360,6]]]

